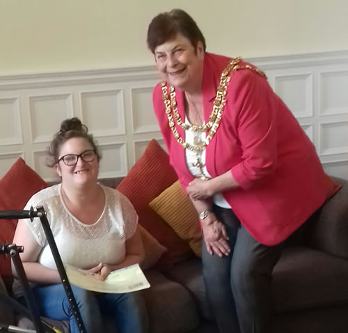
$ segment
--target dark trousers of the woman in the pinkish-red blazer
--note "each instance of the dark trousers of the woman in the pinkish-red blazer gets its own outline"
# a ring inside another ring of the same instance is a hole
[[[272,331],[272,270],[284,242],[267,247],[255,240],[230,209],[213,206],[226,226],[231,252],[211,256],[203,242],[203,277],[219,333]]]

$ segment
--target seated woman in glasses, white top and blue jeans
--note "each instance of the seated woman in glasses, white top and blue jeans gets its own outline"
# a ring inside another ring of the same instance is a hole
[[[101,280],[141,263],[138,215],[120,192],[97,183],[100,153],[87,127],[78,118],[63,121],[47,151],[61,183],[33,195],[24,209],[45,208],[63,263]],[[40,221],[20,220],[13,242],[24,245],[21,258],[40,315],[70,320],[70,331],[79,332]],[[117,332],[148,332],[141,293],[95,293],[76,286],[72,291],[88,333],[103,332],[104,314],[116,319]]]

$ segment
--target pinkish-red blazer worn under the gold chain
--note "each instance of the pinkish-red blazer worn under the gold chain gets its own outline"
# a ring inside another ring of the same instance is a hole
[[[205,54],[202,88],[206,123],[221,71],[229,61]],[[184,93],[175,91],[184,119]],[[160,84],[155,87],[153,105],[171,165],[186,191],[193,176],[187,169],[184,148],[168,127]],[[177,131],[184,138],[184,130],[177,127]],[[269,246],[298,229],[333,189],[296,118],[267,79],[251,70],[232,75],[219,129],[206,148],[206,165],[212,177],[230,170],[239,187],[223,192],[224,198],[249,233]],[[340,188],[334,187],[335,191]]]

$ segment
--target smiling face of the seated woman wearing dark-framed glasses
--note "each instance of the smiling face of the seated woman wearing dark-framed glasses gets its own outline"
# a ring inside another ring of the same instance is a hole
[[[68,154],[80,155],[86,150],[93,150],[93,146],[90,145],[88,140],[81,137],[73,137],[65,141],[61,146],[59,158]],[[58,176],[62,178],[63,185],[68,185],[69,187],[74,185],[79,186],[90,182],[97,182],[99,162],[97,157],[92,162],[85,162],[79,157],[77,164],[72,166],[68,166],[63,160],[60,160],[55,164],[54,169],[58,173]]]

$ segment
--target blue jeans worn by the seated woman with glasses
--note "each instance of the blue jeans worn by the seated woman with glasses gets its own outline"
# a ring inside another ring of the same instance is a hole
[[[94,293],[72,286],[87,333],[104,332],[104,317],[116,320],[118,333],[147,333],[148,316],[141,293]],[[35,286],[33,294],[41,316],[69,320],[70,332],[79,333],[62,284]]]

